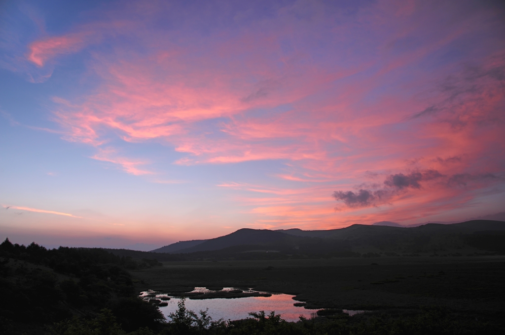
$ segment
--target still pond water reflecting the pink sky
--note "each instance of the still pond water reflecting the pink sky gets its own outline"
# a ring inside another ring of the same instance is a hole
[[[231,287],[224,288],[223,291],[231,291],[236,290]],[[203,287],[197,287],[192,291],[201,292],[201,293],[209,293],[211,291],[207,290]],[[252,290],[244,290],[243,292],[252,293],[257,291]],[[147,294],[153,294],[155,292],[142,292],[141,297],[146,297]],[[260,292],[267,293],[267,292]],[[270,293],[270,292],[269,292]],[[151,299],[158,299],[159,297],[166,296],[166,294],[162,294],[156,292],[156,298],[151,297]],[[198,313],[200,310],[209,309],[208,314],[212,317],[213,320],[219,320],[223,318],[224,320],[239,320],[245,319],[248,317],[249,312],[259,312],[265,311],[266,314],[269,314],[271,311],[275,311],[275,314],[281,314],[281,318],[286,321],[298,321],[299,316],[303,315],[306,318],[311,318],[315,315],[316,310],[314,309],[305,309],[304,307],[296,307],[293,306],[293,303],[297,301],[293,300],[294,296],[288,294],[281,293],[271,293],[270,297],[246,297],[246,298],[233,298],[233,299],[225,299],[225,298],[215,298],[215,299],[189,299],[186,298],[185,305],[187,309]],[[160,310],[168,318],[170,313],[173,313],[177,310],[177,303],[181,300],[179,297],[170,296],[170,300],[164,301],[168,303],[168,306],[161,306]]]

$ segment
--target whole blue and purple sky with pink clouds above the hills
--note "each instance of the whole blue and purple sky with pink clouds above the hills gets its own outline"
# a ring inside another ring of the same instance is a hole
[[[505,209],[493,1],[0,2],[0,238],[150,250]]]

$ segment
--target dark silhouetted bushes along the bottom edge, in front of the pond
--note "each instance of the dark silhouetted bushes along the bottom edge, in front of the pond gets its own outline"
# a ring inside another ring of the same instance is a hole
[[[447,314],[437,308],[425,308],[416,314],[375,314],[349,317],[341,311],[328,310],[325,316],[313,319],[300,317],[298,322],[286,322],[275,312],[251,312],[243,320],[212,320],[205,311],[199,314],[187,310],[184,301],[169,315],[169,321],[157,327],[141,328],[129,334],[499,334],[502,328],[491,323]],[[125,331],[110,310],[104,309],[93,319],[74,317],[50,327],[53,334],[110,334]]]

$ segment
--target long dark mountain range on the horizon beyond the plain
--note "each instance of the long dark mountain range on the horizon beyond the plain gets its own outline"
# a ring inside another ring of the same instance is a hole
[[[404,227],[385,221],[330,230],[243,228],[209,240],[180,241],[152,252],[204,259],[217,256],[254,258],[267,252],[271,258],[420,253],[461,255],[482,250],[505,253],[505,222],[472,220]]]

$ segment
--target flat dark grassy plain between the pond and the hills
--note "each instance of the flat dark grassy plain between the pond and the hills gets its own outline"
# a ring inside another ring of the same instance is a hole
[[[164,262],[132,276],[138,291],[254,288],[296,295],[308,308],[505,311],[505,256]]]

